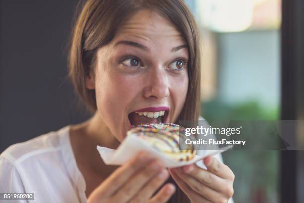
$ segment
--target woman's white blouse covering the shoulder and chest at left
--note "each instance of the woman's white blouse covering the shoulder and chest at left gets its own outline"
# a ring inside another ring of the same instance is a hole
[[[1,153],[0,193],[34,193],[31,203],[86,203],[86,184],[76,164],[69,129],[68,125],[11,145]],[[221,155],[216,157],[222,161]]]

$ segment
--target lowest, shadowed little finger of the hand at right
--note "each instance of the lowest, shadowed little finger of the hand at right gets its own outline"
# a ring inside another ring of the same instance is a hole
[[[169,173],[171,174],[172,178],[177,183],[177,185],[189,197],[191,202],[212,203],[203,196],[196,193],[194,190],[192,190],[192,188],[176,174],[175,170],[169,169]]]

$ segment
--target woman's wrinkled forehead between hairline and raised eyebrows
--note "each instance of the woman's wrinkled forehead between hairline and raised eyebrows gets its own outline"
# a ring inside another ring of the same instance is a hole
[[[133,14],[118,29],[115,40],[137,39],[158,45],[185,44],[180,32],[166,18],[152,10],[140,10]]]

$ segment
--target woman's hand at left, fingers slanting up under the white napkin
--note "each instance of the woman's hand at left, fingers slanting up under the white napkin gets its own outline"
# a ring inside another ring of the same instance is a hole
[[[165,203],[175,192],[173,184],[164,185],[168,171],[145,152],[115,170],[89,196],[88,203]]]

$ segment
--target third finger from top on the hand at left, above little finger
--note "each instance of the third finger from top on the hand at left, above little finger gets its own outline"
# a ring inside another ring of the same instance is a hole
[[[153,193],[167,180],[169,173],[166,169],[163,169],[153,179],[147,183],[143,189],[132,198],[130,203],[143,203],[147,202]]]

